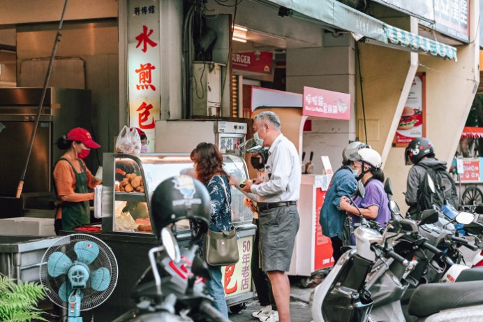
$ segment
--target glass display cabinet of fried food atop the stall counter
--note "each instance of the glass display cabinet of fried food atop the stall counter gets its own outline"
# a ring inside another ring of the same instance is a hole
[[[223,161],[228,175],[239,180],[248,178],[244,159],[225,154]],[[158,184],[174,175],[194,176],[189,154],[104,154],[103,231],[152,233],[151,196]],[[233,223],[251,223],[253,213],[243,203],[244,194],[235,188],[231,193]],[[187,232],[188,221],[179,221],[177,228],[178,233]]]

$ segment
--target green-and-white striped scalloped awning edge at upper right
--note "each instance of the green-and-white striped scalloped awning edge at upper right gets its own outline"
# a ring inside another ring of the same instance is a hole
[[[384,24],[385,35],[388,41],[401,45],[403,47],[410,47],[413,50],[422,50],[423,52],[432,54],[433,56],[441,56],[443,58],[454,59],[456,58],[456,48],[439,43],[438,41],[432,41],[429,38],[415,35],[409,31]]]

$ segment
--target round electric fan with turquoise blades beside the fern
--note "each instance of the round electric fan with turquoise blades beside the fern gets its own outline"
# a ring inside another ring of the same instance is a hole
[[[117,283],[112,250],[91,235],[62,237],[45,251],[40,282],[54,304],[68,310],[68,322],[82,322],[80,311],[101,305]]]

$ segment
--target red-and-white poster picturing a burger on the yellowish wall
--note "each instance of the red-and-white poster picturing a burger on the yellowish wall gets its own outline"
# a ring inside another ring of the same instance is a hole
[[[413,138],[425,135],[424,73],[417,73],[396,130],[396,146],[406,146]]]

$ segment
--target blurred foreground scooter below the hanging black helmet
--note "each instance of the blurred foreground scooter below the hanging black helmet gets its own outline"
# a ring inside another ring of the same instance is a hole
[[[204,292],[207,265],[196,254],[198,246],[179,250],[168,228],[161,230],[163,245],[149,250],[150,266],[138,280],[131,297],[137,307],[113,322],[230,322],[213,307]],[[161,271],[161,272],[160,272]]]

